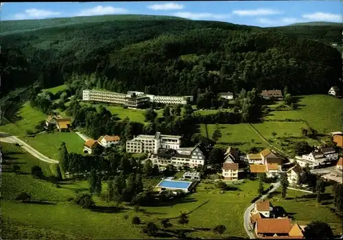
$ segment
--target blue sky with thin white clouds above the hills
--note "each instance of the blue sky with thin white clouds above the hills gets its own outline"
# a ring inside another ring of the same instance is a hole
[[[342,1],[145,1],[4,3],[1,20],[104,14],[181,16],[261,27],[309,21],[342,22]]]

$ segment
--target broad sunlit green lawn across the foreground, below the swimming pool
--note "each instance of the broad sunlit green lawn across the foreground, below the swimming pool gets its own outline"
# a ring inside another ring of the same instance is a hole
[[[258,181],[247,181],[239,185],[241,191],[226,193],[218,193],[218,189],[204,189],[213,184],[200,184],[197,193],[189,195],[177,204],[168,202],[165,206],[143,207],[145,211],[141,213],[135,213],[131,209],[124,209],[119,213],[96,213],[68,202],[38,205],[5,200],[2,202],[2,214],[4,219],[10,217],[11,221],[30,223],[34,228],[60,231],[66,235],[83,235],[95,239],[147,239],[149,237],[141,233],[139,226],[132,226],[130,219],[134,215],[138,215],[143,222],[154,221],[161,227],[161,218],[177,217],[180,212],[191,211],[209,200],[208,203],[189,214],[188,225],[180,226],[176,219],[171,219],[171,223],[174,224],[172,228],[212,228],[217,224],[224,224],[228,232],[223,237],[246,237],[243,213],[257,195],[257,184]],[[97,202],[97,204],[102,203]],[[228,206],[234,211],[226,211]],[[128,215],[129,219],[124,220],[124,215]],[[71,218],[71,216],[77,217]],[[212,231],[206,230],[192,232],[189,236],[218,237]]]

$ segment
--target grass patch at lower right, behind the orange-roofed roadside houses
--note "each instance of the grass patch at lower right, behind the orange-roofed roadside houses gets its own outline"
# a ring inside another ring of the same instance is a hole
[[[336,235],[342,233],[342,220],[337,215],[334,215],[329,210],[333,207],[333,200],[323,200],[322,205],[319,205],[316,200],[316,193],[304,193],[287,189],[286,200],[283,200],[279,192],[275,192],[270,199],[274,206],[282,206],[287,213],[294,217],[294,220],[300,225],[309,224],[311,221],[327,222]],[[327,187],[325,194],[331,195],[331,187]],[[297,201],[295,196],[297,195]]]

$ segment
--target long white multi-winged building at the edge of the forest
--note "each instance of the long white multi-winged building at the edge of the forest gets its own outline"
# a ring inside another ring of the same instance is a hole
[[[158,96],[145,95],[143,92],[128,91],[128,93],[113,93],[109,91],[82,91],[84,101],[102,101],[112,104],[122,104],[129,108],[143,108],[149,102],[157,104],[188,104],[193,101],[193,96]]]

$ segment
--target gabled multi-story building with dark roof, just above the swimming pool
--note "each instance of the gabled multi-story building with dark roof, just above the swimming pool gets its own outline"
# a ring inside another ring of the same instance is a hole
[[[197,144],[194,147],[182,147],[178,149],[158,149],[157,158],[154,162],[159,167],[167,165],[198,167],[204,166],[205,156]]]

